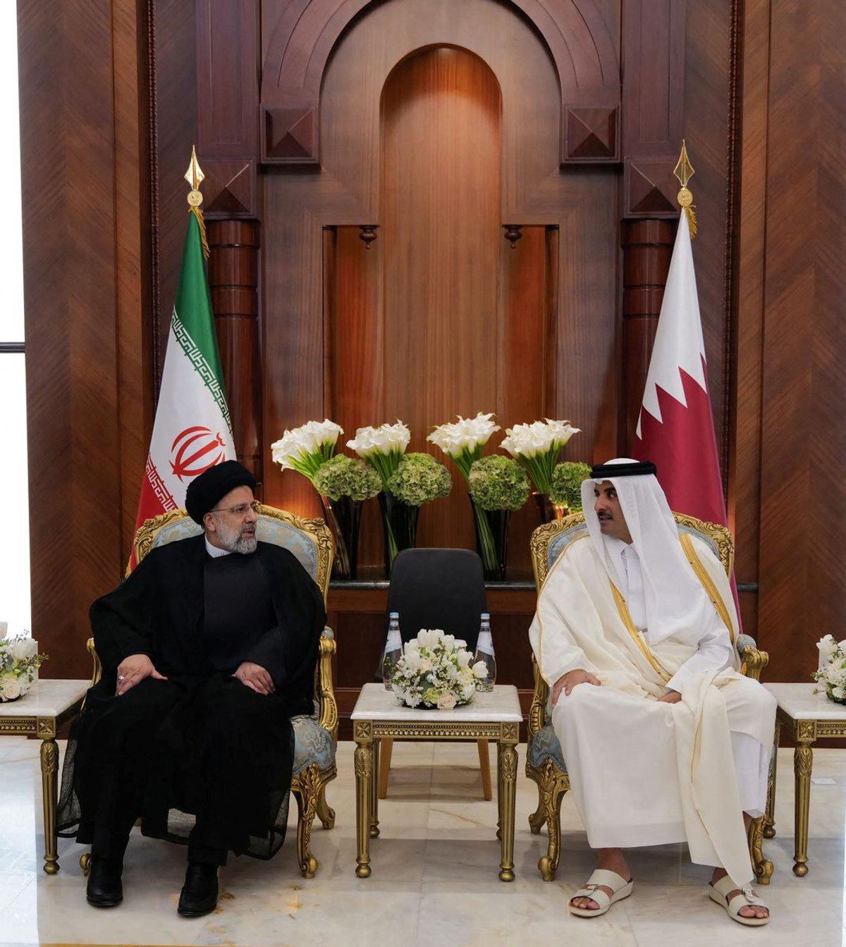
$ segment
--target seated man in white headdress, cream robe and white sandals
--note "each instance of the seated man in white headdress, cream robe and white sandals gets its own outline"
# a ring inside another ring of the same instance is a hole
[[[582,484],[588,535],[538,597],[530,636],[598,868],[579,917],[627,898],[624,848],[687,842],[712,900],[757,926],[747,831],[767,799],[775,701],[738,673],[737,616],[707,543],[679,538],[655,467],[627,458]]]

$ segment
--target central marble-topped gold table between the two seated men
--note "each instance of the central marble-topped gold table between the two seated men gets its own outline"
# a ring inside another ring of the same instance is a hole
[[[500,879],[514,881],[514,807],[517,790],[517,743],[522,711],[517,688],[496,685],[478,693],[472,704],[452,710],[413,710],[381,684],[365,684],[352,712],[356,742],[356,874],[368,878],[370,839],[379,835],[379,741],[492,740],[497,742]]]

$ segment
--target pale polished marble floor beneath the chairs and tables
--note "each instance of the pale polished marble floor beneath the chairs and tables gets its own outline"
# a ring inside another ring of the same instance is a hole
[[[332,831],[315,828],[320,861],[307,881],[297,870],[291,835],[269,863],[233,859],[221,871],[218,910],[183,919],[176,902],[185,849],[133,837],[124,871],[125,900],[97,910],[84,900],[82,850],[61,840],[62,871],[41,870],[41,778],[37,741],[0,741],[0,944],[221,944],[238,947],[422,944],[593,943],[651,947],[767,947],[846,944],[844,820],[846,751],[814,754],[810,873],[796,878],[793,852],[792,751],[779,756],[776,838],[767,842],[775,876],[763,888],[773,912],[766,928],[729,920],[706,893],[709,870],[692,866],[681,846],[631,852],[633,896],[593,920],[567,913],[567,897],[590,874],[573,803],[562,807],[563,855],[554,883],[537,870],[545,835],[530,834],[534,783],[522,777],[517,795],[517,880],[497,878],[496,803],[481,798],[473,744],[397,743],[388,799],[380,805],[381,836],[371,845],[373,874],[355,877],[355,802],[351,743],[339,748],[338,779],[329,787],[337,812]],[[293,810],[295,807],[291,807]],[[315,824],[318,825],[317,823]],[[292,834],[292,833],[291,833]],[[762,934],[766,931],[766,934]]]

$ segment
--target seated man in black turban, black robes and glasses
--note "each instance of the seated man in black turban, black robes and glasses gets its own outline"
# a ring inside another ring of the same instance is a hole
[[[291,716],[312,712],[326,620],[291,552],[256,540],[252,474],[234,460],[187,489],[203,534],[153,549],[91,607],[103,674],[74,724],[59,828],[91,844],[88,902],[123,897],[145,835],[187,841],[179,913],[218,898],[227,853],[270,858],[285,836]]]

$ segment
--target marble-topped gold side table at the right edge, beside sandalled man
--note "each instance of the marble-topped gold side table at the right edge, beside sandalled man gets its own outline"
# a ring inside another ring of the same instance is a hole
[[[818,740],[846,737],[846,706],[835,704],[824,693],[815,694],[816,684],[765,684],[778,702],[776,732],[784,725],[796,742],[793,751],[793,777],[796,784],[795,846],[793,873],[808,873],[808,812],[811,803],[811,770],[814,756],[811,746]],[[767,800],[765,835],[775,835],[773,809],[775,777]]]

